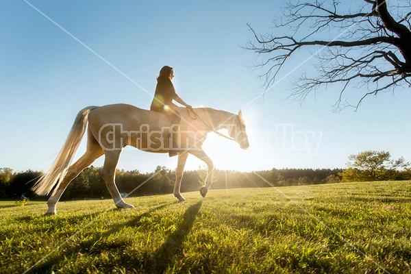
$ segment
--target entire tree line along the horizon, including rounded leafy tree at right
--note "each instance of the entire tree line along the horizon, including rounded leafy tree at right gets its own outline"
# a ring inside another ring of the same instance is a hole
[[[392,160],[388,151],[363,151],[349,156],[347,169],[271,169],[256,172],[216,169],[212,178],[212,188],[262,188],[340,182],[409,180],[411,179],[411,170],[408,166],[410,163],[403,158]],[[84,169],[66,188],[62,199],[109,198],[110,194],[100,175],[102,169],[102,167],[95,166]],[[1,168],[0,198],[16,199],[21,195],[30,199],[37,198],[31,188],[41,175],[42,173],[39,171],[14,172],[12,169]],[[182,179],[182,192],[199,190],[206,180],[206,175],[207,170],[202,168],[196,171],[185,171]],[[142,196],[172,193],[174,183],[175,171],[171,171],[165,166],[157,166],[155,171],[149,173],[140,173],[138,170],[116,171],[116,185],[124,195]],[[137,186],[140,187],[134,191]]]

